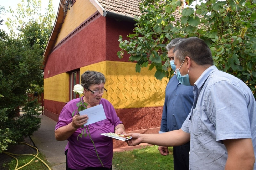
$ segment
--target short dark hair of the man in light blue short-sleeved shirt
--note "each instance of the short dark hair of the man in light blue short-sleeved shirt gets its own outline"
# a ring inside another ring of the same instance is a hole
[[[200,38],[189,37],[176,45],[175,57],[183,62],[188,56],[198,65],[213,65],[212,53],[208,45]]]

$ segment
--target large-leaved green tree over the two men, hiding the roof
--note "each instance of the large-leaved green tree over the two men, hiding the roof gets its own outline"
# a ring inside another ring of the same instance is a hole
[[[190,5],[193,0],[187,1]],[[143,0],[136,17],[136,28],[123,40],[119,37],[122,58],[141,67],[156,68],[155,77],[168,72],[165,45],[177,37],[199,37],[211,48],[215,65],[244,81],[256,98],[256,1],[201,1],[194,7],[181,8],[177,0]]]

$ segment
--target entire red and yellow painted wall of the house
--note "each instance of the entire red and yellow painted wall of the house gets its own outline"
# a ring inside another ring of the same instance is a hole
[[[79,4],[77,2],[74,5]],[[122,60],[118,58],[118,37],[127,38],[126,35],[134,28],[132,23],[93,12],[84,14],[89,17],[82,22],[77,21],[81,23],[75,27],[68,23],[71,22],[68,11],[44,68],[45,115],[57,121],[63,106],[69,101],[68,72],[80,69],[82,74],[86,70],[95,70],[106,76],[108,92],[103,98],[113,104],[126,131],[158,133],[167,79],[157,80],[155,70],[148,68],[136,73],[136,63],[128,62],[127,54]],[[74,30],[70,32],[69,27]],[[123,145],[125,142],[114,142],[114,147]]]

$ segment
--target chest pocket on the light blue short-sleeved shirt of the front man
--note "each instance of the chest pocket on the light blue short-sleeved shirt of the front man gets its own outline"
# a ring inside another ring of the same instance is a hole
[[[193,134],[194,138],[198,138],[203,135],[200,109],[193,109],[190,119],[190,133]]]

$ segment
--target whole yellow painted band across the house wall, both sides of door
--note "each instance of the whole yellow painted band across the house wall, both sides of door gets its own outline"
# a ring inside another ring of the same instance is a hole
[[[109,100],[115,108],[141,108],[163,106],[167,78],[161,81],[154,76],[155,71],[143,67],[135,73],[135,64],[131,62],[102,61],[80,68],[81,75],[87,71],[98,71],[105,75],[103,98]],[[68,102],[69,74],[62,73],[44,79],[44,98],[47,100]]]

